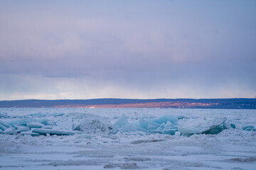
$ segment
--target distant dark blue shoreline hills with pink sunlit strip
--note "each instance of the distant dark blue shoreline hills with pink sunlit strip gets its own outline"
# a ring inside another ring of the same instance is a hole
[[[256,98],[95,98],[0,101],[0,108],[239,108],[256,109]]]

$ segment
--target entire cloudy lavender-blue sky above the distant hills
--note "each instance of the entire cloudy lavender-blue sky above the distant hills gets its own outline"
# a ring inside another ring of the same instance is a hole
[[[255,98],[256,1],[0,1],[0,100]]]

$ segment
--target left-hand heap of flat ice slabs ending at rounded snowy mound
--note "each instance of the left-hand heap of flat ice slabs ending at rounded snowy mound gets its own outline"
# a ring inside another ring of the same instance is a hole
[[[48,120],[51,116],[52,119]],[[58,118],[56,118],[58,117]],[[54,114],[42,116],[41,113],[28,115],[8,123],[0,120],[0,134],[9,135],[75,135],[109,134],[110,126],[104,118],[91,114]]]

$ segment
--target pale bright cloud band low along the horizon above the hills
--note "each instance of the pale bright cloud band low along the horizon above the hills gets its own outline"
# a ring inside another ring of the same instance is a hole
[[[0,100],[10,99],[86,99],[86,98],[235,98],[253,97],[254,89],[246,83],[223,82],[217,88],[202,87],[190,80],[154,84],[126,84],[81,78],[46,78],[28,75],[1,74]],[[152,81],[153,82],[153,81]],[[196,97],[195,97],[196,96]]]

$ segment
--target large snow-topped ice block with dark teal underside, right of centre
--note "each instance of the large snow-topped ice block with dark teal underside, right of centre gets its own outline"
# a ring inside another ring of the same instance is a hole
[[[221,132],[223,128],[221,125],[227,120],[227,118],[190,118],[186,120],[180,120],[178,125],[178,131],[189,134],[216,134]]]

